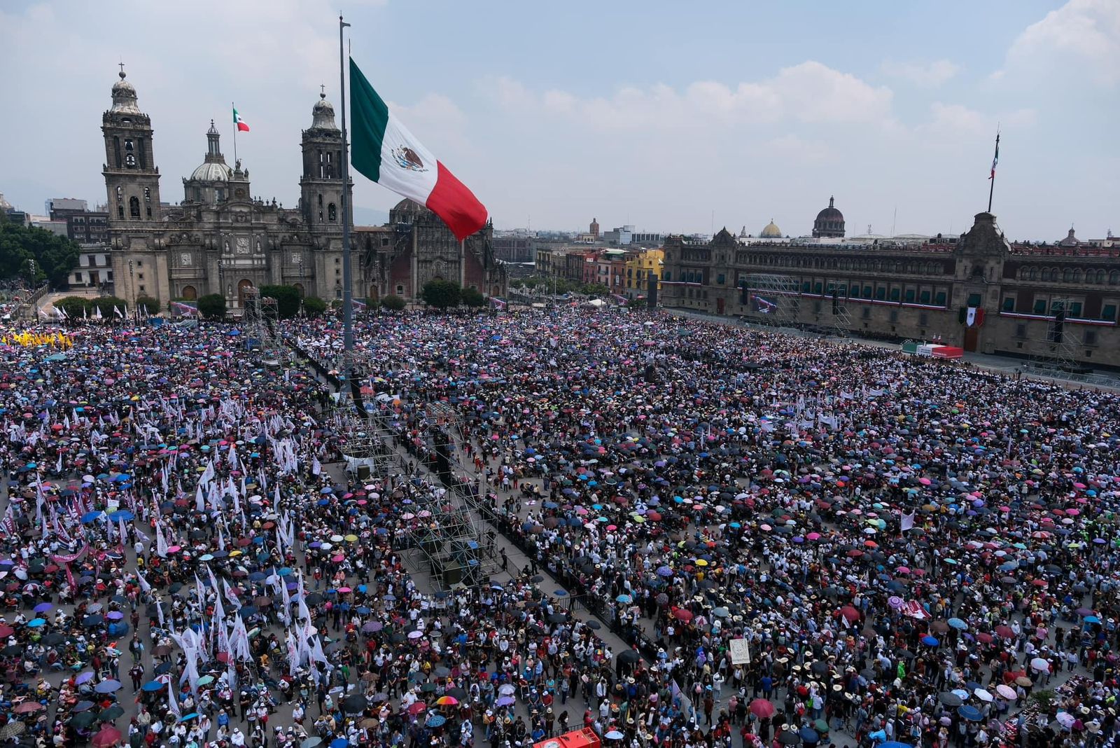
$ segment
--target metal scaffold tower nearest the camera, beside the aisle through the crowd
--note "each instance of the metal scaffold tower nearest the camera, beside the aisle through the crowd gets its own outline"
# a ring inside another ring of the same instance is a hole
[[[459,413],[442,402],[424,408],[426,439],[437,455],[432,486],[438,501],[427,508],[431,516],[419,514],[410,534],[410,557],[431,574],[439,589],[479,587],[491,583],[497,573],[495,537],[478,512],[484,486],[472,467],[459,460],[461,423]]]

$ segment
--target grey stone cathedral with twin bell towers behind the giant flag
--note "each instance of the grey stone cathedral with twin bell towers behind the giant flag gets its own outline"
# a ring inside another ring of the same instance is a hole
[[[343,297],[342,132],[335,110],[319,94],[311,127],[302,131],[300,198],[296,208],[252,197],[249,169],[231,168],[211,122],[206,156],[183,179],[183,202],[160,203],[151,119],[137,104],[121,71],[112,107],[102,116],[109,241],[116,296],[197,299],[221,293],[243,307],[245,290],[289,284],[325,300]],[[386,226],[352,232],[355,298],[395,293],[416,298],[432,279],[454,280],[488,296],[506,288],[494,258],[493,226],[458,242],[423,206],[401,202]]]

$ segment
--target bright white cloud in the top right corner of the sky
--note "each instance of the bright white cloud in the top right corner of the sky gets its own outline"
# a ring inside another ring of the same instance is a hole
[[[1032,24],[1007,54],[1009,67],[1072,67],[1098,82],[1120,82],[1120,2],[1070,0]]]

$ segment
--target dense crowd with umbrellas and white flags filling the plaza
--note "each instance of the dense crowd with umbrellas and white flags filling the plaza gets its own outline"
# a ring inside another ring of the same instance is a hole
[[[337,319],[284,331],[340,367]],[[328,385],[227,326],[57,333],[0,344],[4,742],[1114,739],[1112,393],[643,312],[370,315],[402,457],[358,481]],[[407,564],[456,501],[430,403],[497,533],[477,588]]]

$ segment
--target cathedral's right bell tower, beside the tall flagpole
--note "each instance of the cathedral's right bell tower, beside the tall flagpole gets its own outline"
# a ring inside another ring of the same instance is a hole
[[[335,107],[326,92],[311,110],[311,127],[304,130],[304,176],[299,180],[300,208],[312,228],[343,225],[343,134],[335,124]]]

